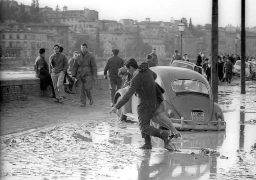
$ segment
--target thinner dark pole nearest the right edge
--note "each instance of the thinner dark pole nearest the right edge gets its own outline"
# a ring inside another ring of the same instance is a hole
[[[241,13],[241,94],[245,94],[245,0],[242,1]]]

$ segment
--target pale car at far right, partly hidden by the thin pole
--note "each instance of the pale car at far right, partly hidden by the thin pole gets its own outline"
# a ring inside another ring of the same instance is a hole
[[[256,73],[256,63],[253,61],[247,61],[245,62],[245,73],[246,78],[252,77],[253,73]],[[234,75],[241,75],[241,61],[236,61],[234,67],[233,67],[233,74]]]

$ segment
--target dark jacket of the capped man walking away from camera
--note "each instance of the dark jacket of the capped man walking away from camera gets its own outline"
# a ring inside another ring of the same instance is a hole
[[[109,78],[115,78],[118,76],[118,69],[124,66],[124,60],[117,55],[113,55],[112,57],[108,58],[107,64],[104,68],[104,76],[109,74]]]

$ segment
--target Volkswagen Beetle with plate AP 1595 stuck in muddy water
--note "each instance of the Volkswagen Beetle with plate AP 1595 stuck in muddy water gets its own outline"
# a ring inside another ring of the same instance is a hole
[[[225,130],[223,112],[213,102],[212,89],[207,79],[191,69],[170,66],[151,67],[157,74],[156,83],[164,88],[165,115],[181,130]],[[127,91],[126,88],[116,92],[115,103]],[[119,120],[127,117],[138,119],[138,98],[132,98],[119,110]],[[164,129],[152,122],[152,125]]]

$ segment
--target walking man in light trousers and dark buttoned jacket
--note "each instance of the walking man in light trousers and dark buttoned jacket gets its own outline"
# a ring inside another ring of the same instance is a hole
[[[53,46],[54,54],[49,58],[49,71],[56,94],[55,103],[62,103],[64,96],[63,81],[68,70],[68,60],[65,54],[60,53],[60,46]]]

